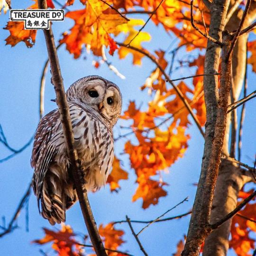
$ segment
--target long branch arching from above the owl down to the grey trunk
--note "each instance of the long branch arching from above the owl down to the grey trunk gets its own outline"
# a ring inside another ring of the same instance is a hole
[[[159,63],[157,62],[157,60],[155,59],[155,57],[152,56],[150,53],[145,52],[144,50],[139,49],[139,48],[134,47],[134,46],[127,46],[127,45],[125,45],[125,44],[123,44],[123,43],[118,43],[118,42],[117,42],[117,45],[119,45],[119,46],[124,46],[124,47],[127,47],[127,48],[129,48],[129,49],[135,50],[135,51],[137,51],[137,52],[139,52],[139,53],[145,55],[145,56],[148,57],[153,63],[156,64],[156,66],[159,68],[159,70],[160,70],[160,71],[163,73],[163,75],[165,76],[165,80],[168,80],[169,83],[171,83],[171,85],[172,85],[173,88],[174,88],[174,91],[176,91],[176,93],[177,93],[177,95],[179,96],[179,98],[183,101],[183,104],[185,105],[185,107],[187,108],[187,110],[189,111],[189,113],[191,114],[192,119],[193,119],[194,122],[196,123],[196,126],[197,126],[197,128],[199,129],[201,135],[204,137],[204,132],[203,132],[203,130],[202,130],[202,128],[201,128],[200,122],[199,122],[197,116],[195,115],[195,113],[193,112],[193,110],[192,110],[191,106],[189,105],[188,101],[185,99],[185,97],[184,97],[182,91],[174,84],[174,82],[172,82],[172,81],[170,80],[170,77],[165,73],[165,70],[161,67],[161,65],[159,65]]]

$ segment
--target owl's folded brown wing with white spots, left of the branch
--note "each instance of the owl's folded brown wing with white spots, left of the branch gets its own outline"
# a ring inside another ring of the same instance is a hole
[[[38,203],[41,197],[42,185],[46,172],[52,162],[52,159],[58,152],[54,145],[49,144],[49,141],[57,129],[56,125],[59,116],[58,110],[49,112],[40,121],[35,135],[31,156],[31,166],[35,168],[33,175],[33,190],[37,195]]]

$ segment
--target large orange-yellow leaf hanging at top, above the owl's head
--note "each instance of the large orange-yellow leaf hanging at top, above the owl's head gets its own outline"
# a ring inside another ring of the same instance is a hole
[[[63,34],[60,43],[66,44],[74,58],[81,55],[84,45],[96,56],[102,55],[102,46],[110,46],[110,54],[113,54],[117,46],[110,33],[116,33],[119,25],[127,22],[116,12],[113,13],[107,4],[98,0],[88,0],[85,9],[70,11],[65,17],[72,18],[75,24],[69,34]]]

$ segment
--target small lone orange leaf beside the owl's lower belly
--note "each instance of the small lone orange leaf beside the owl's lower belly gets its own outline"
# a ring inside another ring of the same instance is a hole
[[[115,156],[112,171],[107,179],[107,183],[110,183],[110,191],[117,191],[120,188],[119,181],[127,180],[128,173],[124,171],[120,166],[120,160]]]

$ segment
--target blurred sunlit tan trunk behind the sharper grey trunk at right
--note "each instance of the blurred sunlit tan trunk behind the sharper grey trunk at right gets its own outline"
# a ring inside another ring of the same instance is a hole
[[[234,31],[238,28],[242,14],[243,10],[241,9],[234,12],[234,15],[230,18],[229,23],[226,26],[229,31]],[[243,27],[249,26],[255,18],[256,2],[253,2]],[[246,70],[247,37],[248,35],[245,34],[238,38],[233,52],[232,71],[234,79],[234,101],[238,100],[243,86]],[[230,120],[231,117],[228,115],[225,141],[222,149],[226,154],[229,154]],[[236,165],[227,162],[226,160],[222,160],[214,194],[210,223],[217,222],[230,211],[234,210],[237,206],[239,190],[241,190],[245,183],[251,181],[252,178],[243,175],[241,169]],[[231,221],[232,219],[229,219],[206,238],[203,256],[224,256],[227,254]]]

